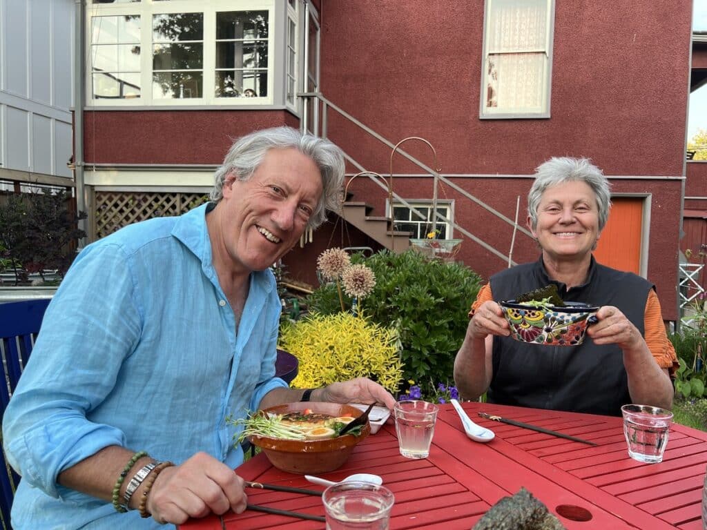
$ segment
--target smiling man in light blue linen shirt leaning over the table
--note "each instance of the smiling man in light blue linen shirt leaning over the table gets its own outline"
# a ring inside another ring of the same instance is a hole
[[[392,408],[369,379],[303,392],[274,377],[281,305],[269,266],[338,208],[343,178],[333,143],[256,131],[230,148],[211,202],[79,254],[4,416],[22,475],[16,530],[243,512],[243,427],[227,416],[309,400]]]

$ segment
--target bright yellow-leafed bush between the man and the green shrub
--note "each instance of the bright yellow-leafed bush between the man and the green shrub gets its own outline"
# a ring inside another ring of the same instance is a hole
[[[350,313],[315,313],[284,326],[279,348],[299,360],[293,387],[323,387],[354,377],[368,377],[397,394],[402,379],[395,329]]]

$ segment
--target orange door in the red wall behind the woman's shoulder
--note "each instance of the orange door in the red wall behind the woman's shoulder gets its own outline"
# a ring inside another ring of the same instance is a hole
[[[643,197],[613,197],[594,257],[602,265],[640,274],[642,228]]]

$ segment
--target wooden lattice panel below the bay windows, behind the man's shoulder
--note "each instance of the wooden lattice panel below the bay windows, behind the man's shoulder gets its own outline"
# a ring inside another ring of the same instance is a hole
[[[95,237],[141,220],[179,216],[208,199],[204,193],[95,192]]]

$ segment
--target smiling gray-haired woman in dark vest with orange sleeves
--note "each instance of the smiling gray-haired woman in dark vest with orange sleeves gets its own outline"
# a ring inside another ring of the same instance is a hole
[[[592,250],[609,218],[609,182],[586,158],[552,158],[536,170],[527,224],[538,261],[493,276],[469,312],[454,378],[460,394],[491,403],[621,415],[621,406],[672,407],[677,356],[653,283],[603,266]],[[510,338],[501,300],[556,285],[566,302],[601,306],[578,346]]]

